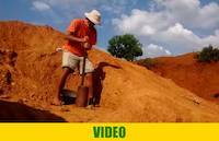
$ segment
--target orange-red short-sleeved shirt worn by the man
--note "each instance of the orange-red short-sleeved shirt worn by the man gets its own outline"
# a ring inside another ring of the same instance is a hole
[[[85,20],[83,19],[72,20],[67,31],[73,33],[73,35],[79,38],[84,38],[85,36],[88,36],[91,47],[92,45],[96,44],[96,30],[94,27],[89,28],[89,26],[85,24]],[[79,57],[82,57],[85,52],[83,43],[79,42],[68,40],[64,48]]]

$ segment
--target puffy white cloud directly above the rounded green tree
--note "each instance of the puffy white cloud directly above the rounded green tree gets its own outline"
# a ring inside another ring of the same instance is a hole
[[[122,15],[120,19],[113,20],[113,24],[119,31],[141,34],[148,33],[147,31],[153,31],[152,33],[154,33],[155,31],[166,28],[171,23],[170,16],[162,12],[148,12],[137,9],[134,9],[129,16]]]

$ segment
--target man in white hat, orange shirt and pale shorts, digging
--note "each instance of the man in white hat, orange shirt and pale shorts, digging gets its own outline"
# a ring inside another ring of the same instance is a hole
[[[62,68],[64,73],[58,85],[58,92],[54,104],[61,105],[60,93],[65,86],[66,79],[79,66],[80,73],[82,73],[83,56],[87,50],[91,49],[96,44],[96,30],[94,25],[101,24],[101,13],[92,10],[90,13],[84,13],[84,19],[76,19],[71,21],[67,30],[67,44],[64,46]],[[92,62],[87,58],[85,73],[87,85],[89,86],[89,104],[92,104],[93,97],[93,74],[94,71]]]

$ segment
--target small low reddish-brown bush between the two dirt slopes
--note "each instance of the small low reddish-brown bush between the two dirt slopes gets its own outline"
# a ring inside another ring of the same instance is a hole
[[[146,58],[146,59],[142,59],[142,60],[138,60],[137,63],[146,67],[149,70],[151,70],[152,68],[154,68],[158,64],[158,60],[152,59],[152,58]]]

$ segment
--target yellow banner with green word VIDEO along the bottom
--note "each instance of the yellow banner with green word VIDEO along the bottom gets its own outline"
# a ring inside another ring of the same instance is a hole
[[[212,141],[219,124],[0,124],[1,141]]]

